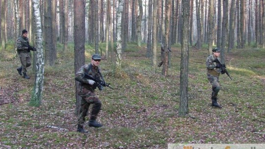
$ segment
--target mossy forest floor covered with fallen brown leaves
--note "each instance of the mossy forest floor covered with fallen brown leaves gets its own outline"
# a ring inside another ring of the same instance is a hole
[[[62,52],[61,47],[56,65],[45,66],[40,107],[28,105],[34,85],[32,67],[28,69],[31,78],[24,79],[16,70],[20,61],[14,51],[1,51],[0,149],[165,149],[169,143],[265,143],[264,49],[226,53],[233,79],[220,76],[222,109],[211,106],[212,87],[205,68],[208,51],[189,50],[189,115],[181,117],[181,49],[172,47],[172,65],[164,77],[162,68],[151,67],[145,48],[129,46],[122,55],[123,78],[111,75],[110,58],[102,60],[105,80],[115,90],[96,90],[102,101],[98,121],[104,127],[86,124],[89,133],[82,134],[76,132],[74,50]],[[86,63],[91,54],[86,48]]]

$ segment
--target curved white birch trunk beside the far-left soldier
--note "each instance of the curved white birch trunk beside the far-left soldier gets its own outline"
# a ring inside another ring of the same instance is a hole
[[[35,71],[35,84],[31,94],[29,104],[32,106],[40,106],[42,101],[43,80],[44,80],[44,58],[42,46],[42,30],[41,30],[41,14],[40,0],[33,0],[33,15],[35,23],[35,47],[37,49],[37,62]]]

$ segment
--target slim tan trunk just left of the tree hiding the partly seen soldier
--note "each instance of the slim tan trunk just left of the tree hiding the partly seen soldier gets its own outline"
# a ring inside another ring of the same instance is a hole
[[[152,66],[157,66],[157,8],[158,0],[153,4],[153,33],[152,33]]]

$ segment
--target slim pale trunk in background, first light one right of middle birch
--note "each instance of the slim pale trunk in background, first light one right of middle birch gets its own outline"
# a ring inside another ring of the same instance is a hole
[[[143,2],[138,0],[139,3],[139,16],[137,19],[137,45],[141,47],[142,44],[142,17],[143,17]]]

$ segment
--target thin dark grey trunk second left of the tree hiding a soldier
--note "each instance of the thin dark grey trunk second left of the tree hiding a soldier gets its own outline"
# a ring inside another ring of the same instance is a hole
[[[148,34],[147,34],[147,51],[146,57],[150,58],[152,56],[152,0],[148,2]]]

